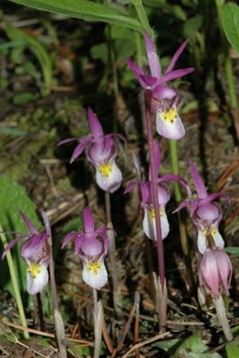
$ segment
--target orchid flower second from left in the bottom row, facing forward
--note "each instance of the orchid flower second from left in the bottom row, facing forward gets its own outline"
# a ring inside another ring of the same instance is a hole
[[[84,231],[65,236],[62,248],[70,241],[75,241],[75,254],[83,264],[82,279],[92,288],[101,289],[108,281],[104,259],[108,254],[109,238],[105,234],[107,226],[95,230],[93,216],[89,207],[83,211],[82,224]]]

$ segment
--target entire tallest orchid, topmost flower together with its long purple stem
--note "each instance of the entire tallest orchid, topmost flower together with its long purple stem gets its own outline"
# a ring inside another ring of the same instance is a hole
[[[160,215],[157,213],[160,210],[159,198],[157,196],[157,170],[155,165],[155,155],[153,148],[153,129],[151,117],[153,113],[156,115],[157,132],[161,136],[169,139],[180,139],[185,130],[181,119],[176,110],[176,103],[179,101],[179,96],[173,87],[169,87],[166,82],[172,79],[179,78],[183,75],[188,75],[193,72],[193,68],[186,68],[181,70],[173,70],[176,60],[179,58],[187,41],[179,47],[174,54],[169,66],[164,75],[162,75],[160,61],[157,58],[157,51],[150,36],[145,32],[146,50],[148,56],[148,63],[150,66],[151,75],[148,75],[138,68],[136,63],[127,60],[131,70],[136,75],[139,84],[145,89],[145,103],[146,103],[146,127],[148,138],[148,151],[150,158],[150,187],[153,198],[153,207],[155,210],[155,227],[157,234],[157,257],[158,257],[158,271],[159,271],[159,290],[161,295],[160,300],[160,330],[164,330],[166,326],[166,284],[164,274],[164,252],[162,245],[162,225],[160,222]]]

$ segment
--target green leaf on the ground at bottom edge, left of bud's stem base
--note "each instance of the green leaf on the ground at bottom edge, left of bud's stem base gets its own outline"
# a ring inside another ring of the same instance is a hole
[[[202,332],[198,331],[186,338],[173,355],[173,358],[221,358],[218,353],[209,353],[209,347],[202,342]]]

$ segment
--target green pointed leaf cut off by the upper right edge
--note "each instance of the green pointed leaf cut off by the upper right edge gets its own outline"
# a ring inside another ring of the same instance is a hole
[[[239,54],[239,6],[233,3],[224,6],[222,25],[228,41]]]

